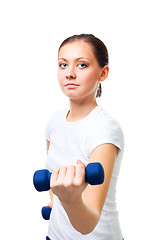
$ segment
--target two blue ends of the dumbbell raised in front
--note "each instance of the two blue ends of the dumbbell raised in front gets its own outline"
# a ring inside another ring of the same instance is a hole
[[[34,173],[33,184],[37,191],[50,189],[51,173],[47,169],[38,170]],[[99,185],[104,182],[104,170],[99,162],[89,163],[85,168],[85,181],[91,185]]]

